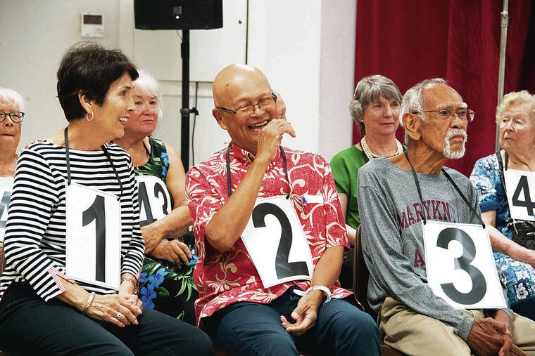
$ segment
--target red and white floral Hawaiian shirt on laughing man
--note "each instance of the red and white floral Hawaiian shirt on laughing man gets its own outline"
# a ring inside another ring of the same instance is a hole
[[[234,191],[254,157],[232,143],[229,150]],[[320,155],[286,147],[284,152],[292,187],[291,202],[308,240],[315,267],[325,249],[340,245],[349,247],[334,178],[329,164]],[[197,164],[187,173],[188,206],[199,250],[199,261],[194,271],[194,282],[199,289],[199,298],[195,302],[199,324],[203,317],[209,317],[232,303],[270,303],[290,286],[297,285],[306,290],[310,284],[308,281],[295,281],[264,288],[241,239],[225,253],[206,244],[206,225],[228,199],[225,153],[226,150],[222,150],[214,154],[208,161]],[[258,197],[285,196],[288,193],[282,154],[278,152],[265,171]],[[303,204],[303,195],[321,196],[323,203]],[[332,289],[333,298],[345,298],[351,294],[342,289],[338,282]]]

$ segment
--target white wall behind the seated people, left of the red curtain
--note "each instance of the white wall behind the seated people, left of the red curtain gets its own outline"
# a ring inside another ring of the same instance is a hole
[[[223,29],[190,32],[191,81],[201,81],[195,161],[229,141],[211,115],[208,78],[245,60],[246,0],[224,0],[223,8]],[[347,102],[353,90],[355,11],[355,0],[249,0],[247,62],[263,70],[284,96],[298,135],[285,138],[284,145],[327,159],[351,145]],[[65,50],[82,40],[80,12],[104,13],[106,37],[96,41],[121,48],[160,80],[165,109],[155,136],[180,149],[180,39],[175,31],[135,30],[132,0],[0,0],[0,86],[14,88],[27,101],[21,146],[66,124],[56,98],[56,70]],[[190,107],[194,93],[192,82]]]

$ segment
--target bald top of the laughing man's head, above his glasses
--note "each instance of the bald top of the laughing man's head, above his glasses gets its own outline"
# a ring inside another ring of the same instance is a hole
[[[270,87],[267,78],[258,68],[251,65],[232,64],[215,76],[212,86],[215,107],[232,105],[241,91],[248,91],[258,86]],[[235,107],[229,107],[232,110]]]

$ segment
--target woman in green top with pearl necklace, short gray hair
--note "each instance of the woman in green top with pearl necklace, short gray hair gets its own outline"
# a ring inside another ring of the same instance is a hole
[[[403,152],[403,145],[396,140],[401,104],[398,86],[382,75],[364,77],[358,82],[349,110],[360,135],[360,143],[338,152],[330,163],[336,190],[344,215],[349,243],[355,246],[355,235],[360,218],[358,215],[358,169],[375,157],[391,157]],[[351,288],[353,283],[353,253],[342,265],[341,286]]]

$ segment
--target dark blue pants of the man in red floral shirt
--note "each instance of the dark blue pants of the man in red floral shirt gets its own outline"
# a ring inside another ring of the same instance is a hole
[[[377,324],[347,301],[332,299],[317,313],[313,328],[294,337],[282,327],[280,316],[291,322],[299,296],[291,290],[269,304],[239,302],[205,321],[215,345],[232,355],[381,355]]]

